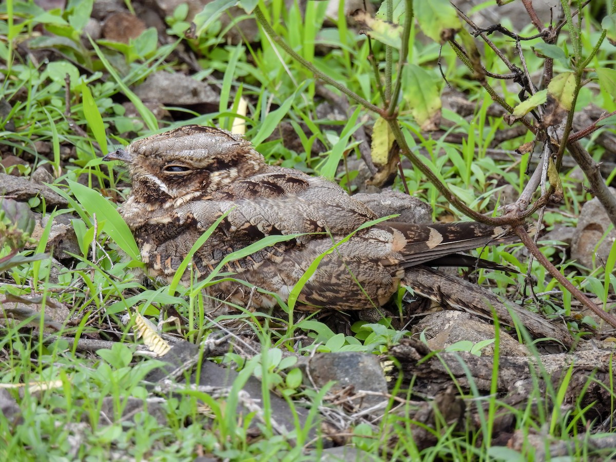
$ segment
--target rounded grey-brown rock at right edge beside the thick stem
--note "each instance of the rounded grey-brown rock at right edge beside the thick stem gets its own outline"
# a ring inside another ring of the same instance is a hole
[[[610,190],[614,194],[614,189]],[[601,241],[601,238],[611,223],[598,198],[586,202],[580,212],[571,242],[571,257],[587,268],[593,268],[595,254],[598,259],[595,265],[599,266],[606,261],[616,240],[616,230],[612,229],[607,233],[604,240]]]

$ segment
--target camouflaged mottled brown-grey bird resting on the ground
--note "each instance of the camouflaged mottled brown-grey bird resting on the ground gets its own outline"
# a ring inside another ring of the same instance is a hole
[[[500,227],[391,221],[363,227],[379,217],[341,187],[294,169],[270,166],[247,140],[216,128],[177,128],[136,140],[105,160],[128,166],[132,192],[120,213],[153,277],[170,281],[195,241],[224,216],[193,255],[197,279],[210,274],[225,256],[266,236],[293,235],[229,261],[223,270],[286,300],[310,265],[321,258],[296,309],[380,307],[402,283],[428,298],[487,317],[493,307],[501,322],[509,325],[513,309],[535,336],[570,343],[569,334],[559,326],[513,304],[508,310],[492,293],[428,267],[443,264],[459,251],[511,238]],[[189,278],[187,271],[182,281]],[[233,280],[208,291],[240,306],[249,302],[251,309],[276,305],[269,294]]]

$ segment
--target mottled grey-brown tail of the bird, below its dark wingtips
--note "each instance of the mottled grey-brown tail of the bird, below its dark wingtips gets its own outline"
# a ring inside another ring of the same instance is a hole
[[[494,313],[501,324],[514,326],[514,319],[534,338],[553,338],[570,347],[573,338],[563,326],[554,324],[536,313],[511,302],[503,302],[495,294],[461,278],[443,274],[432,268],[416,266],[405,272],[402,280],[421,296],[455,309],[492,319]]]

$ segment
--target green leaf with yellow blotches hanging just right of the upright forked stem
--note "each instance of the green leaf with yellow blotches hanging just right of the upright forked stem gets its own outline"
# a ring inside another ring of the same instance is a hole
[[[424,131],[437,130],[442,106],[438,84],[416,64],[408,64],[403,73],[403,97],[415,121]]]

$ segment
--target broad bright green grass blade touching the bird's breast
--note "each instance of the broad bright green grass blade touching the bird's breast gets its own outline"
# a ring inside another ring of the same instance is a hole
[[[97,221],[103,222],[103,231],[106,232],[120,248],[134,260],[140,260],[139,248],[131,230],[120,216],[116,208],[110,201],[102,197],[99,192],[79,184],[75,181],[67,180],[73,195],[79,203],[91,215],[96,214]]]

